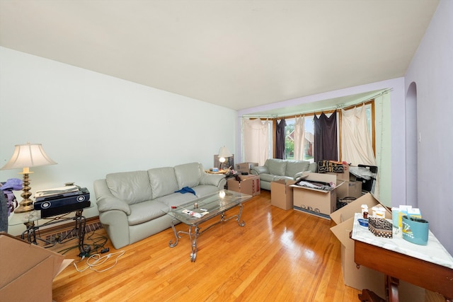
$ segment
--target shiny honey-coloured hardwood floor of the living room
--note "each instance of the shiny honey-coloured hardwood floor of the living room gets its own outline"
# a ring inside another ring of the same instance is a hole
[[[360,291],[343,283],[340,242],[330,231],[333,222],[273,207],[266,190],[244,204],[242,218],[243,227],[231,220],[203,233],[196,262],[190,262],[188,236],[183,235],[175,248],[168,247],[174,240],[169,228],[120,249],[124,255],[113,255],[96,267],[106,269],[118,259],[105,272],[77,272],[71,264],[55,278],[53,299],[359,301]],[[187,231],[182,224],[177,229]],[[103,229],[92,237],[102,235]],[[110,253],[119,252],[110,241],[105,246]],[[65,255],[79,262],[78,253]],[[86,259],[77,266],[84,269]]]

